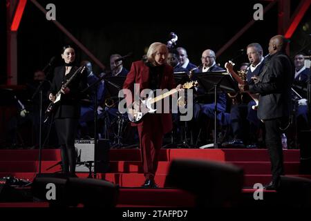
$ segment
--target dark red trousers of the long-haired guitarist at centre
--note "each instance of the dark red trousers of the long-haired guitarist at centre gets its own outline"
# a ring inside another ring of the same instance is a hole
[[[143,122],[138,125],[140,151],[146,179],[154,179],[158,169],[160,149],[163,142],[161,115],[149,113],[144,115]]]

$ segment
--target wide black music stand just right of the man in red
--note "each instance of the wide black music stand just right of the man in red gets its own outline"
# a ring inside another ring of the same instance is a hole
[[[205,89],[206,92],[214,91],[214,148],[218,148],[217,141],[217,94],[223,93],[236,93],[238,85],[227,73],[227,71],[205,72],[196,73],[194,77],[198,80],[198,84]]]

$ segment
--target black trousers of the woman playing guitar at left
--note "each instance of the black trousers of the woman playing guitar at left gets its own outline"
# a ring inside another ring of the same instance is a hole
[[[62,172],[75,173],[77,153],[75,151],[75,135],[77,133],[78,119],[57,118],[55,127],[61,147]]]

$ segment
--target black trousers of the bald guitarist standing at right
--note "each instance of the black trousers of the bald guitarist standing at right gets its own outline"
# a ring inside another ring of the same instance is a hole
[[[272,182],[278,182],[284,174],[281,134],[288,124],[288,117],[267,119],[265,124],[265,145],[270,155]]]

